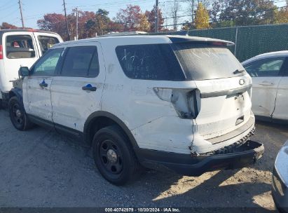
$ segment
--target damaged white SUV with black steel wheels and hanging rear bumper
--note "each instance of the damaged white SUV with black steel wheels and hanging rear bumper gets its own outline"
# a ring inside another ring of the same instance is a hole
[[[251,78],[229,41],[111,36],[55,45],[10,92],[11,121],[92,144],[105,179],[125,184],[143,165],[191,176],[254,163]],[[25,77],[26,76],[26,77]]]

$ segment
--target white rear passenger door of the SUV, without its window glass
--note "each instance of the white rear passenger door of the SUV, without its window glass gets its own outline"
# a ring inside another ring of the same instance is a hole
[[[102,90],[106,68],[102,48],[98,42],[71,43],[69,46],[97,46],[100,73],[95,78],[54,76],[51,99],[54,123],[83,132],[88,116],[101,110]],[[83,90],[85,85],[96,87],[96,91]]]

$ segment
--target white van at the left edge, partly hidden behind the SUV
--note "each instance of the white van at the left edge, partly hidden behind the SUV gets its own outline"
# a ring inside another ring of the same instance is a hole
[[[8,99],[20,67],[31,67],[55,43],[63,42],[53,32],[35,29],[0,30],[0,104]],[[1,107],[1,105],[0,105]]]

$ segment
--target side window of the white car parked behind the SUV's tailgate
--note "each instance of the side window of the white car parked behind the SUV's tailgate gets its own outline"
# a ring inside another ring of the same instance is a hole
[[[279,76],[284,60],[285,57],[271,57],[250,62],[244,67],[252,77]]]

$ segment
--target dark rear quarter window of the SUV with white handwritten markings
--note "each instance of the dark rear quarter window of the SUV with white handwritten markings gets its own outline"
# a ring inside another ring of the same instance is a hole
[[[184,81],[184,72],[169,44],[118,46],[116,55],[128,78]]]

